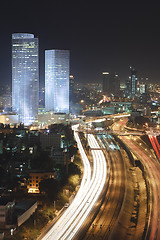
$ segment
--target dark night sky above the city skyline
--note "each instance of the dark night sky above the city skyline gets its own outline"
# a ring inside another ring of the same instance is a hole
[[[0,3],[0,82],[11,84],[11,34],[39,38],[40,82],[44,50],[69,49],[77,82],[99,82],[114,71],[122,82],[129,66],[138,77],[160,80],[158,1],[3,1]]]

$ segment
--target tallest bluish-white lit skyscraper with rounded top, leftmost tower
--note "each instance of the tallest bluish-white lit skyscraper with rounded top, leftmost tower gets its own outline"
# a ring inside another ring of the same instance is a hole
[[[12,34],[12,110],[25,125],[38,118],[38,38],[33,34]]]

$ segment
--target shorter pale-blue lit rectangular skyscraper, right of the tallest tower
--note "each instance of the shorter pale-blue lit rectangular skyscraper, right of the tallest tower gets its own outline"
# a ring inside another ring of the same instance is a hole
[[[69,113],[69,51],[45,51],[45,108]]]

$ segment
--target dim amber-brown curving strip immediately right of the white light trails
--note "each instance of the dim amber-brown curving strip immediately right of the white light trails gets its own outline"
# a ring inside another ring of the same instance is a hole
[[[111,136],[107,138],[106,135],[101,135],[99,141],[109,154],[110,179],[104,202],[85,240],[108,239],[120,213],[125,193],[125,170],[120,149]]]

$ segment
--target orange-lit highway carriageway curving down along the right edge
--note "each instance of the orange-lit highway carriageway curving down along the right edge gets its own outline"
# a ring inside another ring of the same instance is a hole
[[[125,122],[119,122],[117,128],[114,130],[120,130],[123,128]],[[139,137],[121,136],[122,141],[129,147],[132,153],[140,160],[145,167],[149,176],[151,187],[151,201],[150,201],[150,215],[148,219],[148,227],[146,232],[146,239],[160,239],[160,164],[155,160],[152,154],[149,154],[149,150],[144,147],[144,142]]]

